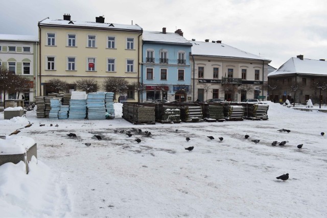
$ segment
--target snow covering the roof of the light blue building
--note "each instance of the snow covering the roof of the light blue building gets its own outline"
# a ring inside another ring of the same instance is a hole
[[[157,31],[143,31],[143,41],[155,42],[155,43],[169,43],[169,44],[184,44],[192,46],[187,39],[180,36],[177,33],[162,33]]]

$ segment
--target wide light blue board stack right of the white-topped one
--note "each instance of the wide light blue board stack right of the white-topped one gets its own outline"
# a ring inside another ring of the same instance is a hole
[[[89,120],[106,119],[104,99],[105,92],[92,92],[87,94],[87,118]]]

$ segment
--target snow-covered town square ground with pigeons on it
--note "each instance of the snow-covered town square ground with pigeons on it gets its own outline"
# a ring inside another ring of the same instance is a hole
[[[326,217],[327,113],[267,103],[269,120],[222,123],[132,125],[119,103],[113,120],[37,119],[35,111],[4,120],[2,112],[0,133],[33,123],[14,137],[33,138],[38,159],[28,175],[22,162],[0,166],[0,217]],[[142,133],[113,131],[132,128]]]

